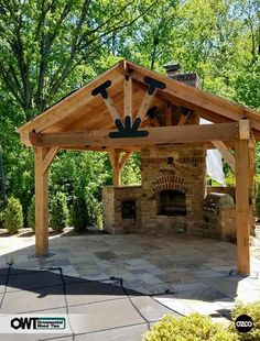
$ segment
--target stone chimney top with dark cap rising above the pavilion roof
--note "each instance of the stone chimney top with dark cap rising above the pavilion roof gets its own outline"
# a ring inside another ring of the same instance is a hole
[[[201,80],[196,73],[181,73],[182,66],[176,62],[171,62],[163,66],[169,77],[183,81],[192,87],[201,88]]]

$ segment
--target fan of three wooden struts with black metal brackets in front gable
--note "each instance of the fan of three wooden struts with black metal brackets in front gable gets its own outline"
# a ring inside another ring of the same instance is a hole
[[[123,138],[145,138],[149,135],[149,131],[147,130],[139,130],[144,117],[149,112],[149,108],[151,105],[151,101],[156,92],[158,89],[165,89],[165,84],[162,81],[159,81],[152,77],[143,77],[143,81],[148,85],[147,94],[143,98],[143,101],[138,110],[138,113],[136,118],[132,116],[132,106],[131,106],[131,94],[132,91],[132,85],[131,85],[131,77],[126,76],[124,80],[124,98],[126,98],[126,105],[124,105],[124,121],[122,121],[120,114],[118,113],[118,110],[116,106],[113,105],[113,101],[111,97],[108,94],[108,88],[111,86],[111,80],[107,80],[102,82],[100,86],[95,88],[91,92],[93,96],[101,96],[113,122],[117,127],[118,131],[109,132],[108,136],[110,139],[123,139]],[[127,94],[128,92],[128,94]],[[126,112],[129,110],[130,112]]]

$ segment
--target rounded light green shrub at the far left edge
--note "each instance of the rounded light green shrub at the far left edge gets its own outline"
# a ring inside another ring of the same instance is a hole
[[[23,227],[23,212],[19,199],[10,197],[3,211],[3,227],[10,233],[17,233]]]

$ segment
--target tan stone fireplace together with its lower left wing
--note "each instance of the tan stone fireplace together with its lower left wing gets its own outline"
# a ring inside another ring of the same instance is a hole
[[[104,187],[106,230],[202,233],[205,156],[204,145],[142,148],[142,185]]]

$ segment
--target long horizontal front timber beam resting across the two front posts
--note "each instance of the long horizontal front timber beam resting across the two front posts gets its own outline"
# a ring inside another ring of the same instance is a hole
[[[245,121],[246,122],[246,121]],[[130,146],[130,145],[156,145],[165,143],[204,143],[210,141],[238,141],[250,139],[250,127],[242,133],[240,122],[174,125],[148,128],[145,138],[118,138],[111,139],[111,131],[91,132],[62,132],[62,133],[30,133],[28,139],[32,146]]]

